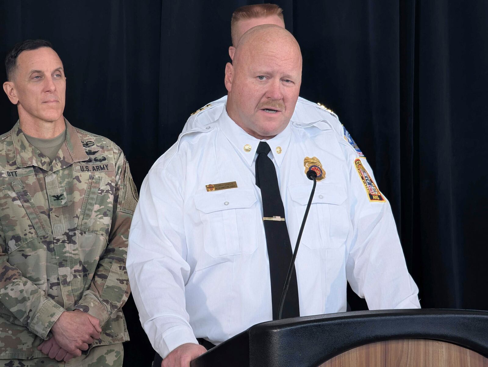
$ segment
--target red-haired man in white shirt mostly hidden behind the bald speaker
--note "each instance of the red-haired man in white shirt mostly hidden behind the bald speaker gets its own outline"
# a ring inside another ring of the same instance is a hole
[[[232,46],[229,47],[229,56],[231,60],[234,58],[236,46],[241,36],[247,30],[261,24],[276,24],[285,28],[283,9],[276,4],[254,4],[241,6],[234,11],[230,22]],[[206,104],[196,112],[192,113],[183,127],[183,132],[217,120],[224,109],[226,101],[227,96],[224,96],[216,101]],[[341,124],[337,118],[337,115],[335,115],[331,110],[325,108],[321,104],[310,102],[305,100],[305,98],[298,97],[292,120],[300,122],[314,122],[329,118],[331,115],[337,120],[337,124],[340,126]],[[345,129],[344,133],[347,135]]]

